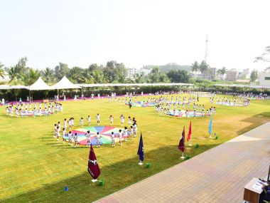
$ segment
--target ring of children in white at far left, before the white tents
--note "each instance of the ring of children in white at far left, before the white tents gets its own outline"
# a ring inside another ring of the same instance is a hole
[[[47,116],[59,112],[63,112],[63,105],[56,102],[48,105],[44,103],[43,108],[41,103],[33,103],[33,106],[32,103],[16,103],[16,105],[11,104],[6,108],[6,115],[13,116],[15,113],[16,117]]]

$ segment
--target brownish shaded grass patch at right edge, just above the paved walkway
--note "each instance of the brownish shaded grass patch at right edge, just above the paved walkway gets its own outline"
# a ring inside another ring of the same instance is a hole
[[[241,120],[245,123],[250,123],[250,125],[248,127],[237,130],[237,133],[238,135],[242,135],[243,133],[254,129],[255,127],[258,127],[258,125],[263,125],[264,123],[267,123],[269,120],[270,120],[270,112],[264,112],[264,113],[259,113],[257,115],[252,115],[249,118],[245,118]]]

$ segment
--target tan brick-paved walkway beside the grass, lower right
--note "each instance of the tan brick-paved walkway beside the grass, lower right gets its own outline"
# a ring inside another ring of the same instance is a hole
[[[97,202],[243,202],[270,165],[270,122]]]

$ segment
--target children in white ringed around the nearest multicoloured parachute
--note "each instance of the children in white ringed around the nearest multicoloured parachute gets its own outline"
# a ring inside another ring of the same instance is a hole
[[[65,118],[64,120],[64,126],[62,128],[62,140],[63,140],[63,144],[65,144],[65,141],[68,140],[68,145],[69,146],[73,146],[72,144],[74,143],[74,147],[78,147],[79,146],[79,140],[78,140],[78,135],[77,132],[72,132],[72,128],[75,126],[74,125],[74,118],[70,118],[69,120],[67,120]],[[96,120],[97,120],[97,125],[100,125],[100,115],[99,113],[96,116]],[[120,116],[120,121],[121,121],[121,127],[123,127],[124,125],[124,115]],[[109,116],[109,123],[110,125],[114,124],[114,116],[110,115]],[[82,127],[84,125],[84,119],[80,118],[80,126]],[[91,125],[91,117],[90,115],[88,115],[87,117],[87,125],[90,126]],[[124,129],[119,129],[119,132],[115,133],[115,132],[111,132],[111,140],[112,140],[112,147],[115,147],[115,138],[118,138],[119,140],[119,145],[122,145],[122,141],[124,140],[124,142],[127,142],[128,137],[136,137],[137,135],[137,131],[138,131],[138,127],[137,127],[137,121],[136,118],[132,118],[129,116],[128,118],[128,125],[129,125],[129,129],[128,127],[124,127]],[[69,130],[68,130],[69,127]],[[54,135],[53,137],[56,137],[57,140],[59,141],[61,135],[60,135],[60,130],[61,130],[61,124],[60,121],[54,125]],[[69,131],[67,133],[67,131]],[[85,133],[85,138],[87,139],[87,147],[90,147],[90,145],[92,144],[92,140],[91,137],[95,137],[96,142],[96,147],[100,147],[101,145],[101,141],[100,139],[102,138],[102,135],[99,135],[99,132],[95,133],[94,135],[91,134],[90,130],[87,130],[87,132]],[[68,139],[67,139],[67,138]]]

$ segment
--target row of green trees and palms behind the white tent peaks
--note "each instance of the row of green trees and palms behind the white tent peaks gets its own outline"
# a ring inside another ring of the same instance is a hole
[[[124,63],[108,61],[106,66],[92,63],[88,68],[74,66],[70,68],[66,63],[59,63],[55,68],[38,70],[27,66],[28,58],[23,57],[16,65],[4,67],[0,63],[0,76],[4,72],[9,74],[10,85],[31,85],[41,76],[45,83],[53,84],[63,76],[69,78],[72,83],[188,83],[188,71],[172,70],[167,73],[160,71],[159,66],[153,66],[151,73],[145,76],[143,73],[136,73],[134,77],[127,78],[127,69]]]

